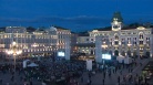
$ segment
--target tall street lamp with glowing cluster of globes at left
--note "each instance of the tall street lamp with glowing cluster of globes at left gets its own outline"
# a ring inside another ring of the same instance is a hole
[[[16,41],[13,41],[12,44],[11,44],[11,46],[10,46],[10,50],[7,50],[6,53],[13,56],[13,64],[14,64],[14,66],[13,66],[13,70],[14,70],[14,74],[13,74],[14,81],[13,82],[16,84],[16,56],[19,55],[19,54],[21,54],[22,50],[19,50],[18,49],[18,43]]]

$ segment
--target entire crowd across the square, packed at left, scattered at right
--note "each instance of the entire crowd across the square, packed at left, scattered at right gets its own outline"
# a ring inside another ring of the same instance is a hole
[[[80,85],[80,81],[84,82],[83,73],[86,72],[86,62],[84,61],[53,61],[50,57],[42,59],[41,61],[31,59],[31,62],[34,62],[39,66],[35,67],[22,67],[21,62],[17,62],[16,64],[16,75],[20,76],[20,81],[30,85],[32,82],[39,81],[45,84],[52,85]],[[102,84],[105,84],[106,76],[112,77],[114,74],[119,74],[116,76],[116,81],[119,84],[142,84],[146,83],[146,78],[142,75],[135,74],[132,75],[134,67],[142,66],[141,62],[136,60],[133,61],[132,64],[122,64],[118,63],[113,66],[104,66],[102,70],[94,70],[93,72],[88,72],[88,81],[86,85],[92,84],[92,75],[96,73],[102,73]],[[125,75],[124,72],[130,73],[130,75]],[[14,65],[12,63],[1,64],[0,65],[0,74],[10,74],[11,82],[14,81]],[[99,78],[100,79],[100,78]],[[0,78],[0,83],[2,84],[3,79]],[[147,83],[146,83],[147,84]]]

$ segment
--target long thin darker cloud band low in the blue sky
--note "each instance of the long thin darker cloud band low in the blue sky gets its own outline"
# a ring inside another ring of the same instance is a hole
[[[110,19],[99,18],[99,17],[75,17],[75,18],[61,18],[61,17],[48,17],[48,18],[37,18],[37,19],[22,19],[22,18],[0,18],[1,22],[24,22],[24,23],[50,23],[50,22],[68,22],[75,24],[99,24],[108,23]]]

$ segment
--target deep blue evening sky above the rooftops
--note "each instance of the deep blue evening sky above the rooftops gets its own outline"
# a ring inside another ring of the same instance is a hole
[[[110,26],[120,11],[124,24],[153,22],[153,0],[0,0],[0,26],[59,25],[80,32]]]

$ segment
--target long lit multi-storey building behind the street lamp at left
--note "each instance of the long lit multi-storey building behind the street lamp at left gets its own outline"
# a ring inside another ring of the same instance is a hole
[[[11,57],[6,53],[13,41],[17,47],[22,50],[19,57],[50,56],[53,52],[63,50],[65,38],[70,39],[70,30],[49,28],[47,30],[28,31],[23,26],[7,26],[0,33],[0,56]]]

